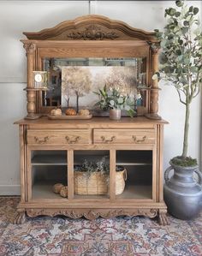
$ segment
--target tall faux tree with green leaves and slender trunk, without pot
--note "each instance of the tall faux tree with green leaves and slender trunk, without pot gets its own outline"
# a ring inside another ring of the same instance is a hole
[[[162,51],[160,73],[154,74],[153,79],[163,78],[175,86],[180,102],[185,106],[183,151],[179,164],[187,165],[183,162],[187,159],[190,104],[199,94],[202,83],[202,32],[199,9],[188,7],[185,1],[175,1],[175,5],[175,8],[165,9],[167,25],[164,31],[155,30]],[[188,162],[196,164],[195,159]]]

